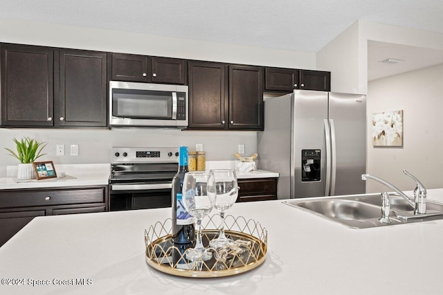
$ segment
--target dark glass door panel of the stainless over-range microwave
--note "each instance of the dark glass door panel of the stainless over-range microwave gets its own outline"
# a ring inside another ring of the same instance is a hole
[[[173,91],[112,89],[112,116],[172,120],[174,97]]]

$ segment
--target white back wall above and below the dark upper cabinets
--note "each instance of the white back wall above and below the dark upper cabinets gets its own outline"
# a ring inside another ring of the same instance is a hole
[[[174,39],[154,35],[80,28],[29,21],[0,19],[0,42],[79,48],[96,51],[134,53],[210,60],[262,66],[316,69],[315,53],[278,51],[267,48],[217,44],[197,40]],[[57,163],[109,163],[113,146],[178,146],[203,143],[209,161],[233,160],[237,145],[245,145],[245,155],[257,152],[257,132],[197,132],[165,129],[0,129],[0,177],[6,177],[6,166],[17,160],[3,147],[14,149],[12,138],[31,136],[45,141],[48,154],[42,160]],[[78,144],[78,157],[56,156],[55,145]]]

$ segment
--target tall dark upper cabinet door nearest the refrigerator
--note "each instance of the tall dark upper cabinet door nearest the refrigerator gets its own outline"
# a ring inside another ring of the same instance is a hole
[[[229,66],[229,129],[263,130],[263,68]]]

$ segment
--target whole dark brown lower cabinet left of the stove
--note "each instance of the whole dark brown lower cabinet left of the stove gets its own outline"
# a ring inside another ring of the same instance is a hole
[[[105,212],[108,186],[0,190],[0,247],[37,216]]]

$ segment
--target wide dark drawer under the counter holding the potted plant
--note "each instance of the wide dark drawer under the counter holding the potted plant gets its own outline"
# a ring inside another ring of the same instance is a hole
[[[0,208],[105,203],[106,188],[14,190],[0,192]]]

